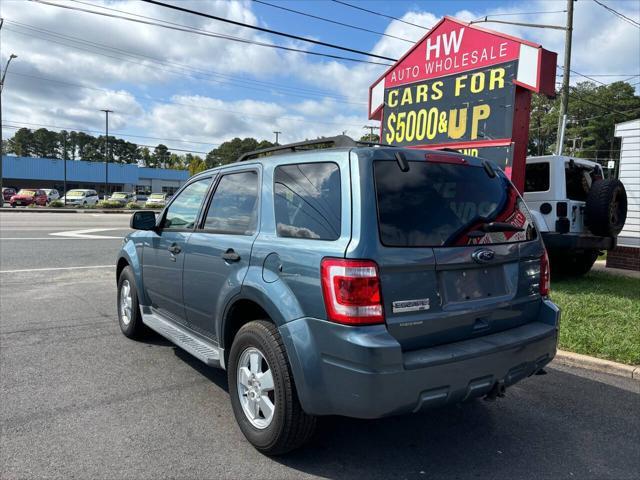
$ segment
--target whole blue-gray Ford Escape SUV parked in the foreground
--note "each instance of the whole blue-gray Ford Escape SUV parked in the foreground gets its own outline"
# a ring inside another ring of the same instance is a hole
[[[131,227],[122,332],[226,369],[236,420],[268,454],[321,415],[502,396],[556,352],[544,245],[486,160],[347,137],[279,146],[192,177]]]

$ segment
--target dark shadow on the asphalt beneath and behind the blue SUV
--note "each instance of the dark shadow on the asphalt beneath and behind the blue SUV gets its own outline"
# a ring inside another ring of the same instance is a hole
[[[175,354],[228,391],[226,372]],[[638,478],[640,395],[548,371],[496,402],[380,420],[323,417],[307,446],[272,461],[326,478]]]

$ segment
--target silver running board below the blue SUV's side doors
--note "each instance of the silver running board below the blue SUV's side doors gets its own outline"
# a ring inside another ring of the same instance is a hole
[[[157,313],[143,313],[142,323],[207,365],[225,368],[222,348],[196,337],[185,328],[166,320]]]

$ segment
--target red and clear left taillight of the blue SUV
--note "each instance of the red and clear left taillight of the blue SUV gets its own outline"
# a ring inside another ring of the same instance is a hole
[[[325,258],[320,272],[329,320],[346,325],[384,323],[375,262]]]

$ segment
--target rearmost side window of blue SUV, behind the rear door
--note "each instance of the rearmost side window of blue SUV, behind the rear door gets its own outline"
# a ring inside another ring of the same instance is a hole
[[[340,169],[331,162],[277,167],[276,229],[280,237],[336,240],[340,237]]]

